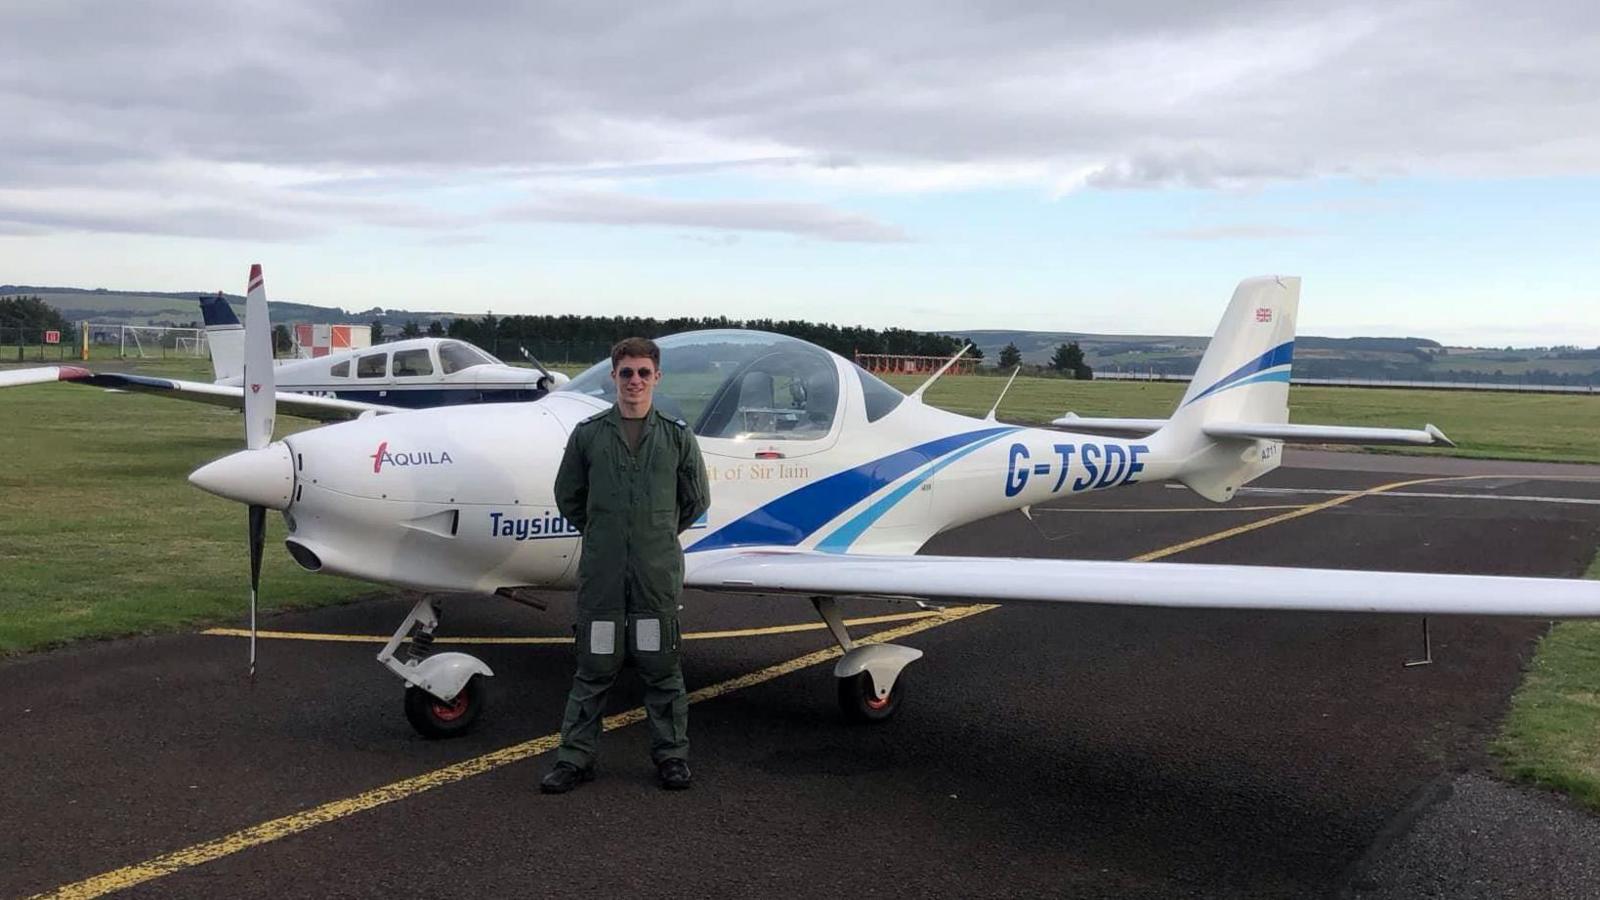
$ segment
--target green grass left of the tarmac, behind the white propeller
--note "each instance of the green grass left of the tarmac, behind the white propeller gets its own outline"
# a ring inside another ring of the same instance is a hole
[[[278,421],[280,434],[312,424]],[[240,444],[230,410],[74,384],[0,391],[0,653],[243,621],[245,509],[186,480]],[[283,520],[267,522],[264,609],[371,589],[302,572],[277,549]]]

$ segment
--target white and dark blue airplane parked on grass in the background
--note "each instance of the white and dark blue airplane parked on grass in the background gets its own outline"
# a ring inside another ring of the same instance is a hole
[[[202,298],[216,381],[91,372],[48,365],[0,372],[0,388],[72,381],[219,407],[245,405],[245,328],[226,299]],[[283,391],[278,408],[320,421],[456,404],[538,400],[568,381],[560,372],[506,365],[482,349],[448,338],[410,338],[317,359],[275,362]],[[536,360],[538,365],[538,360]]]

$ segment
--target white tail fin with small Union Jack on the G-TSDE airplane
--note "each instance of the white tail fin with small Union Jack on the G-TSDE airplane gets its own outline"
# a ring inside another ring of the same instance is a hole
[[[1280,461],[1280,442],[1218,439],[1206,424],[1283,424],[1290,420],[1298,277],[1246,279],[1234,290],[1189,391],[1166,426],[1150,436],[1166,453],[1187,458],[1178,480],[1206,500],[1224,501]]]

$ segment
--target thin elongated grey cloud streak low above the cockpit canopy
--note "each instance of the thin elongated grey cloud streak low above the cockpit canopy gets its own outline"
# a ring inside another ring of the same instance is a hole
[[[608,226],[677,226],[712,231],[762,231],[856,243],[909,240],[896,226],[818,203],[762,200],[667,200],[635,194],[571,191],[506,207],[501,221]]]

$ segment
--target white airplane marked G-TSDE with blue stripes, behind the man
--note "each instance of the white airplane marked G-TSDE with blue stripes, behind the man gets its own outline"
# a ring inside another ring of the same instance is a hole
[[[1178,410],[1138,440],[1003,424],[994,410],[981,420],[942,412],[923,402],[926,384],[901,394],[795,338],[664,338],[656,404],[693,423],[712,488],[709,514],[683,533],[685,585],[810,597],[843,650],[834,674],[856,719],[894,713],[899,674],[922,652],[854,644],[842,596],[1600,617],[1600,581],[915,556],[957,525],[1136,482],[1176,480],[1226,501],[1278,466],[1285,439],[1443,440],[1432,426],[1288,424],[1298,303],[1299,279],[1242,282]],[[264,322],[259,269],[248,304],[248,319]],[[272,440],[266,335],[246,341],[248,448],[190,482],[250,506],[251,629],[267,509],[283,514],[288,551],[312,572],[445,593],[574,585],[579,538],[555,506],[554,477],[573,426],[613,400],[608,360],[533,405],[366,416]],[[472,724],[493,674],[466,653],[427,655],[437,625],[434,601],[418,602],[378,657],[406,684],[413,725],[435,737]]]

